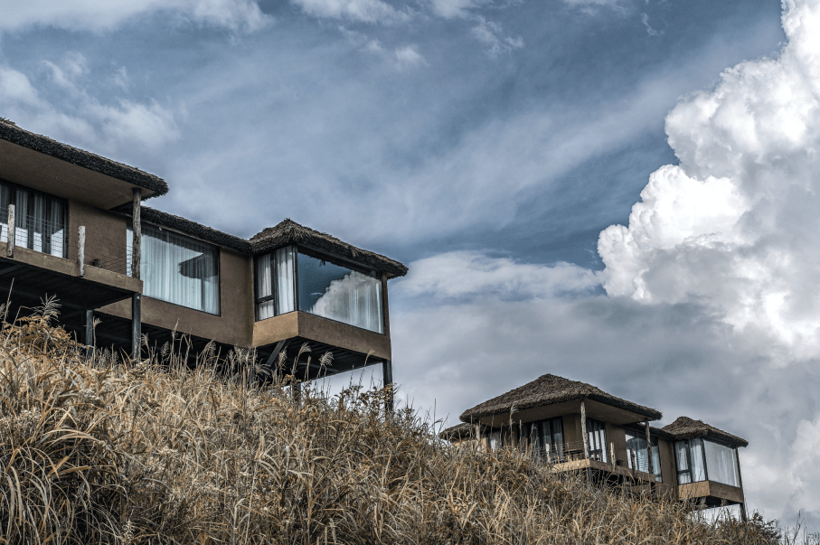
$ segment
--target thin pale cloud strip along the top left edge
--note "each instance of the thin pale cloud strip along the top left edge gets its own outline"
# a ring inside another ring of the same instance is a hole
[[[254,0],[33,0],[4,5],[0,31],[36,25],[110,31],[134,16],[156,12],[177,14],[232,32],[255,32],[272,21]]]

